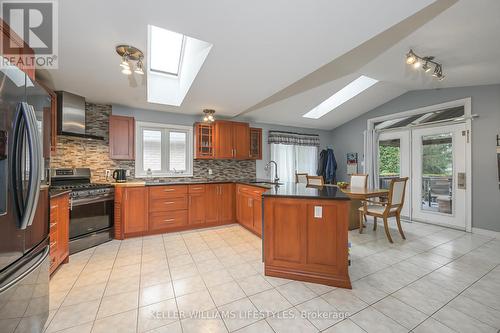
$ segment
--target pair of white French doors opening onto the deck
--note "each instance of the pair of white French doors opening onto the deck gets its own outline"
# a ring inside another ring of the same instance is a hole
[[[378,186],[409,177],[401,215],[410,220],[467,229],[465,124],[407,128],[378,136]]]

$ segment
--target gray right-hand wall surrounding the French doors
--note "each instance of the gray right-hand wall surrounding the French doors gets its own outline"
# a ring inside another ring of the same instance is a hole
[[[346,179],[345,155],[363,156],[363,131],[367,120],[387,114],[471,97],[472,113],[472,225],[500,231],[500,190],[496,135],[500,134],[500,85],[417,90],[403,94],[332,131],[332,142],[339,162],[339,179]],[[360,170],[361,171],[361,170]]]

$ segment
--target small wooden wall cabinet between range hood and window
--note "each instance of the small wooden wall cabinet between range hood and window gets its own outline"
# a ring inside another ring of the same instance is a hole
[[[133,117],[109,117],[109,157],[113,160],[135,158],[135,120]]]

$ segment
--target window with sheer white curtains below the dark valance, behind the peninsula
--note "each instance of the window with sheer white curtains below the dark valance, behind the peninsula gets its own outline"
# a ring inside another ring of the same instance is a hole
[[[318,147],[273,143],[271,144],[271,160],[278,164],[280,181],[295,182],[295,173],[316,174]],[[274,169],[272,172],[274,173]]]

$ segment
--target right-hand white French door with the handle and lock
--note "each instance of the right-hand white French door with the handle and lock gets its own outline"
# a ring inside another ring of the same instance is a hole
[[[465,124],[412,131],[412,218],[466,228]]]

